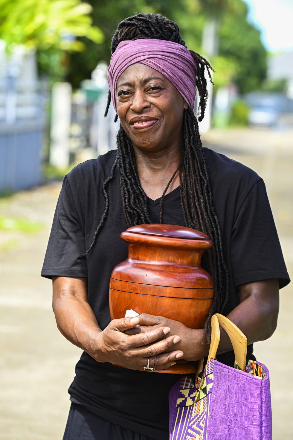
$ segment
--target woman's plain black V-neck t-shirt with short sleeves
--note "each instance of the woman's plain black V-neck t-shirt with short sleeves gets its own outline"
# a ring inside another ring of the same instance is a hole
[[[279,239],[263,180],[239,162],[204,149],[214,207],[220,222],[223,251],[230,276],[229,300],[224,314],[239,304],[238,286],[278,278],[280,287],[289,282]],[[42,276],[87,277],[88,301],[98,324],[110,322],[109,279],[112,269],[127,259],[127,245],[120,238],[124,218],[116,169],[109,182],[109,212],[89,248],[105,209],[102,185],[110,175],[116,150],[74,168],[63,181],[45,256]],[[148,199],[153,223],[159,223],[159,199]],[[166,194],[163,223],[185,226],[180,188]],[[248,356],[252,355],[252,345]],[[218,356],[226,364],[233,353]],[[157,439],[167,439],[168,392],[177,374],[148,374],[109,363],[98,363],[83,352],[76,377],[69,388],[71,400],[118,425]]]

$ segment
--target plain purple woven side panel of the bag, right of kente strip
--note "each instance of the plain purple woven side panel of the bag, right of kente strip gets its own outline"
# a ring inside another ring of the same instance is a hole
[[[271,440],[268,370],[267,377],[261,379],[214,361],[208,433],[211,440]]]

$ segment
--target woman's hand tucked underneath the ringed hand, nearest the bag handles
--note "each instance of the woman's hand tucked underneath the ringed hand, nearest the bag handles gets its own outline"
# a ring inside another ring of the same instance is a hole
[[[190,329],[179,321],[167,319],[163,316],[148,315],[147,313],[142,313],[138,318],[137,324],[139,324],[139,326],[126,330],[125,333],[128,335],[145,333],[146,331],[166,326],[170,328],[169,336],[178,335],[181,337],[181,341],[176,345],[176,349],[184,352],[185,360],[195,361],[201,359],[203,356],[207,356],[209,346],[202,345],[203,329]]]

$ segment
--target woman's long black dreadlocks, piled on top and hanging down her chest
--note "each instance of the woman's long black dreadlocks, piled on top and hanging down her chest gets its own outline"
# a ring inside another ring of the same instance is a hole
[[[137,14],[119,23],[112,38],[111,52],[115,52],[118,44],[123,40],[138,40],[141,38],[168,40],[186,47],[176,23],[163,17],[161,14]],[[208,97],[205,70],[212,84],[211,71],[214,70],[210,63],[197,52],[190,51],[190,53],[197,68],[196,88],[199,94],[198,119],[202,121]],[[108,113],[110,103],[111,93],[109,91],[105,116]],[[116,120],[117,116],[115,118],[115,121]],[[105,180],[103,186],[106,199],[105,211],[95,231],[93,242],[87,252],[94,246],[98,231],[107,216],[109,200],[106,187],[109,180],[112,179],[116,167],[120,173],[123,211],[128,226],[152,223],[148,213],[147,197],[138,178],[132,144],[121,124],[117,135],[117,148],[117,158],[112,167],[111,176]],[[206,270],[209,271],[214,282],[213,304],[205,324],[204,340],[206,340],[210,337],[211,316],[215,312],[223,312],[228,299],[228,271],[224,261],[219,220],[213,207],[209,174],[199,136],[198,122],[190,107],[184,110],[180,163],[165,188],[160,201],[161,223],[163,221],[163,196],[166,194],[177,172],[179,172],[181,205],[186,226],[204,232],[210,237],[213,243],[212,248],[203,256],[203,265]]]

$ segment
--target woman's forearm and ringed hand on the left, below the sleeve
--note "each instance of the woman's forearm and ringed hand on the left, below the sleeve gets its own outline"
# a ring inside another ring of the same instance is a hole
[[[153,367],[164,370],[183,356],[174,349],[179,337],[169,335],[163,339],[170,332],[166,326],[129,336],[125,332],[137,325],[138,318],[122,318],[112,320],[101,330],[87,301],[86,278],[54,277],[53,310],[61,333],[97,362],[143,370],[151,358]],[[168,348],[171,352],[165,353]]]

